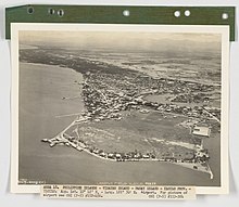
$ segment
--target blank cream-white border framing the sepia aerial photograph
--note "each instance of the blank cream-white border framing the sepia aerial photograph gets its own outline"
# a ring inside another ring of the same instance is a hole
[[[11,192],[40,193],[40,185],[18,184],[18,31],[146,31],[147,33],[190,33],[222,35],[222,131],[221,131],[221,186],[197,186],[197,194],[227,194],[228,174],[228,137],[229,137],[229,26],[215,25],[124,25],[124,24],[11,24]]]

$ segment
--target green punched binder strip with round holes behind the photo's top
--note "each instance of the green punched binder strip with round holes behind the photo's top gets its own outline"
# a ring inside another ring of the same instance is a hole
[[[229,25],[230,41],[235,41],[234,7],[123,7],[36,4],[7,8],[7,39],[11,39],[11,23]]]

